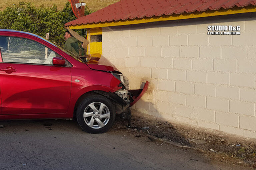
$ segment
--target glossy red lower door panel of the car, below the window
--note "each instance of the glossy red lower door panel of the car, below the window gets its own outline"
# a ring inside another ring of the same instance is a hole
[[[2,114],[66,113],[71,93],[69,67],[0,63]],[[17,83],[18,82],[18,83]]]

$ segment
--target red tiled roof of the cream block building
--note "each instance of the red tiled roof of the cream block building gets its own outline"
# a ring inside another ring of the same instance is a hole
[[[66,26],[111,22],[135,18],[256,6],[256,0],[120,0],[90,15],[66,23]]]

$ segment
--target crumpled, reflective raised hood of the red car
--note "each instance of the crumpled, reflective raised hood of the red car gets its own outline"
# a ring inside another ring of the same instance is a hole
[[[85,57],[88,58],[88,62],[86,62],[86,64],[93,70],[120,72],[114,64],[99,53],[86,55]]]

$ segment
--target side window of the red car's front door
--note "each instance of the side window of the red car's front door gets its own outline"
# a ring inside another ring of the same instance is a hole
[[[24,38],[0,37],[3,62],[52,65],[52,58],[60,56],[46,46]]]

